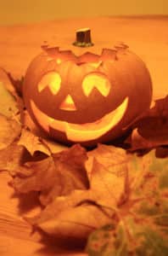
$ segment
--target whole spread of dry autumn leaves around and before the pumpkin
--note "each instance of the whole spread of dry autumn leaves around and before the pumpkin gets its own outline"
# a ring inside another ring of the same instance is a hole
[[[87,241],[90,256],[168,255],[168,96],[129,137],[87,151],[45,137],[18,88],[0,82],[0,170],[18,197],[36,193],[42,210],[26,217],[33,229]]]

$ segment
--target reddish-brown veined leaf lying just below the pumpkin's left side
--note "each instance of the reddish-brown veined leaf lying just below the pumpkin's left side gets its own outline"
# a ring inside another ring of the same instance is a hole
[[[20,193],[39,191],[42,205],[48,205],[56,196],[88,188],[85,160],[85,149],[75,145],[44,160],[27,162],[16,172],[14,189]]]

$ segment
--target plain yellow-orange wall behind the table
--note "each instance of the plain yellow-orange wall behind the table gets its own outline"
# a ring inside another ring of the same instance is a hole
[[[10,2],[10,3],[8,3]],[[0,24],[105,15],[168,15],[167,0],[1,1]]]

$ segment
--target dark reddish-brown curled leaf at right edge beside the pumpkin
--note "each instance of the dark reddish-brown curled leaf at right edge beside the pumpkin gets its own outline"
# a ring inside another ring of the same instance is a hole
[[[168,96],[157,100],[154,108],[144,113],[133,127],[129,138],[131,150],[168,145]]]

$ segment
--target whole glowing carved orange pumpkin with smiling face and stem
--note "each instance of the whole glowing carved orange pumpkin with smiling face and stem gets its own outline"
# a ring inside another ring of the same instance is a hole
[[[76,45],[92,44],[89,30],[76,35]],[[100,55],[44,47],[25,73],[23,96],[31,118],[50,137],[94,146],[120,137],[149,107],[152,84],[143,61],[125,44]]]

